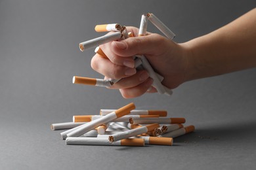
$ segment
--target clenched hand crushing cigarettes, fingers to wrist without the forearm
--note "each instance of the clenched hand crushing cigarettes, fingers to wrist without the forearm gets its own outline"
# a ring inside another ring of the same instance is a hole
[[[127,31],[138,35],[139,29],[127,27]],[[110,88],[119,89],[125,98],[138,97],[152,86],[152,78],[145,70],[134,68],[133,56],[144,54],[156,73],[164,77],[162,84],[167,88],[176,88],[186,80],[188,50],[184,44],[177,44],[154,33],[144,37],[131,37],[123,41],[114,41],[100,46],[108,59],[95,54],[91,67],[106,78],[121,78]],[[156,92],[152,88],[149,92]]]

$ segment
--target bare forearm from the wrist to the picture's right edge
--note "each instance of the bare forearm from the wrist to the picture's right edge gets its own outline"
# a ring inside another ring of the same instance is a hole
[[[256,9],[182,45],[189,54],[186,80],[256,67]]]

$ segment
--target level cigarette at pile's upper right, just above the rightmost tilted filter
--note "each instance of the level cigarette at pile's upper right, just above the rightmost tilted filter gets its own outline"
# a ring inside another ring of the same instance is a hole
[[[131,118],[130,124],[184,124],[185,118]]]

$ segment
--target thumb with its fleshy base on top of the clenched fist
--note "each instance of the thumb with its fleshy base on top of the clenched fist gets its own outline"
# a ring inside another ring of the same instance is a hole
[[[142,37],[130,37],[123,41],[111,42],[112,52],[118,56],[129,57],[136,54],[158,55],[171,41],[159,34],[152,33]]]

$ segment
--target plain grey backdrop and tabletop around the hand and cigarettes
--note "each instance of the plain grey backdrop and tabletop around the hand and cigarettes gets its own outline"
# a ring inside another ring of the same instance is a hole
[[[139,27],[152,12],[185,42],[209,33],[256,1],[0,1],[0,169],[253,169],[256,69],[186,82],[171,97],[123,99],[117,90],[72,84],[102,78],[93,49],[79,42],[103,35],[96,24]],[[153,25],[148,31],[159,33]],[[242,42],[241,42],[242,43]],[[165,109],[196,131],[174,146],[66,146],[50,125],[134,102]]]

